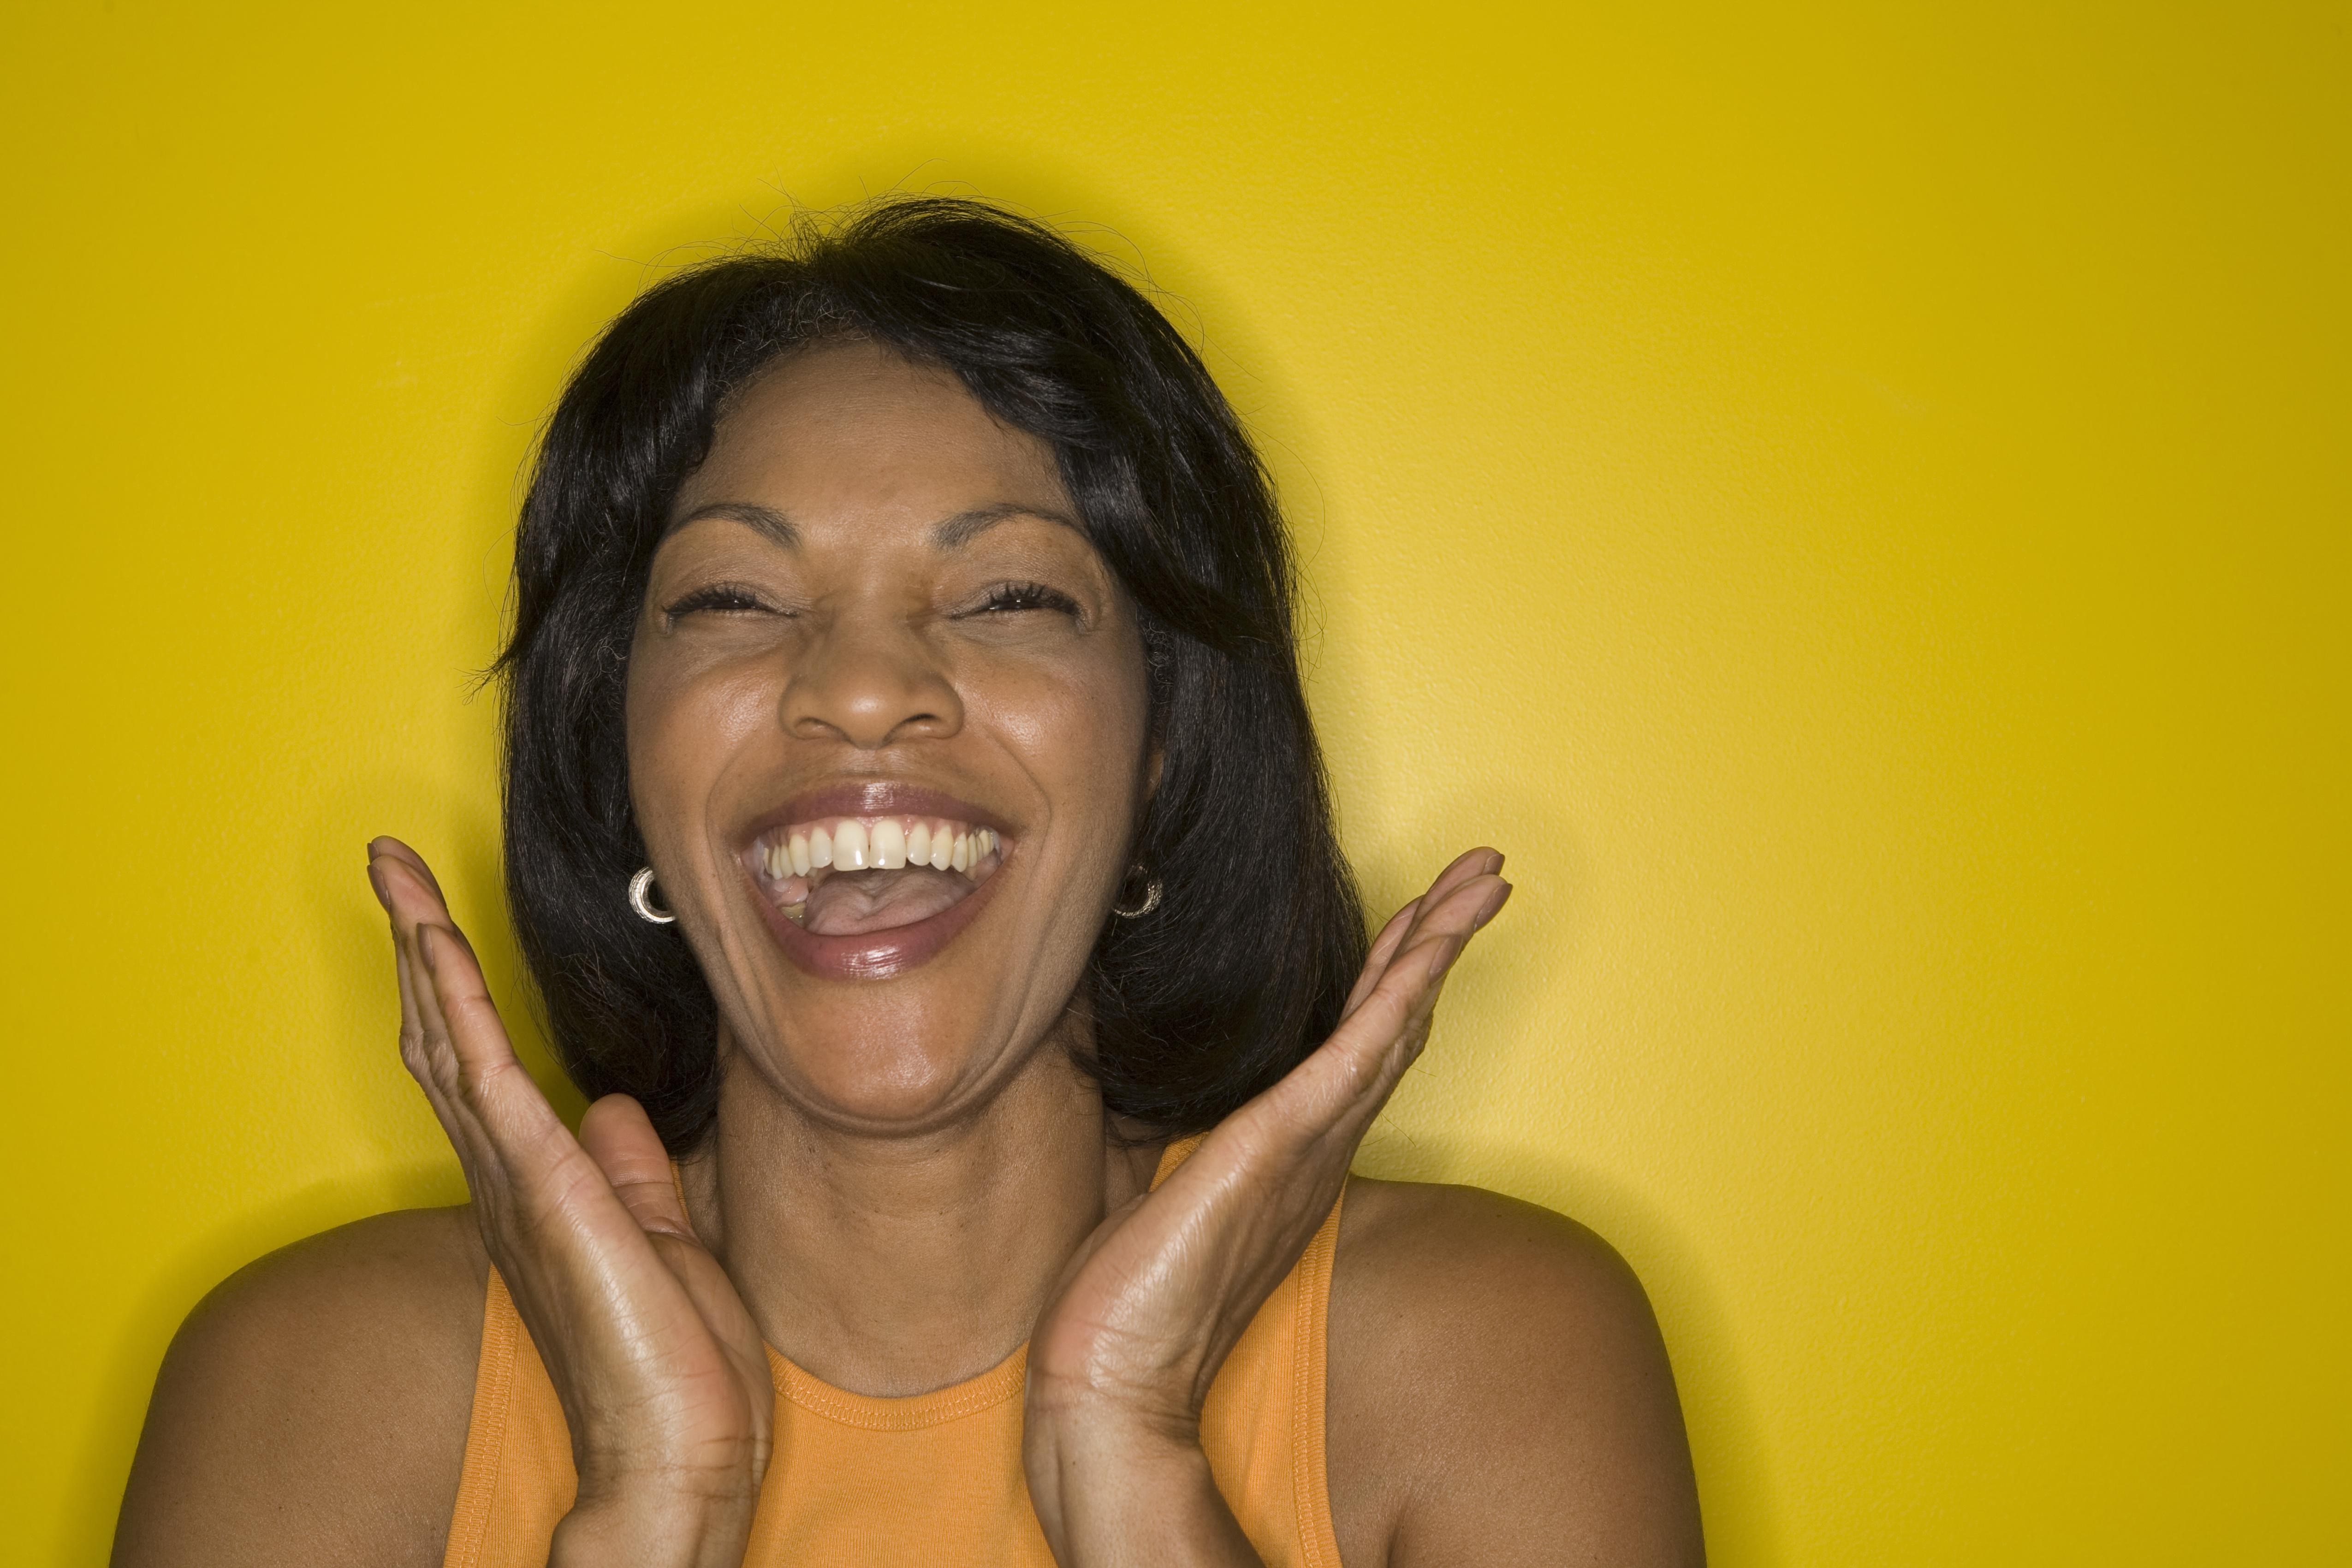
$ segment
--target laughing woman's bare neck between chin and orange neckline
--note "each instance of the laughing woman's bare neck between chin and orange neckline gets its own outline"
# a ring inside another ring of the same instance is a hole
[[[694,1227],[760,1333],[854,1394],[953,1387],[1021,1347],[1070,1255],[1150,1185],[1096,1086],[1047,1039],[971,1114],[847,1133],[734,1056],[682,1166]]]

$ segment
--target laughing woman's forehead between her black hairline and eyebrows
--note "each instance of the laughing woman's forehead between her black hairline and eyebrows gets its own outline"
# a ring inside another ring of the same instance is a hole
[[[866,341],[793,353],[729,402],[675,515],[717,501],[795,517],[1068,512],[1051,447],[988,414],[955,371]]]

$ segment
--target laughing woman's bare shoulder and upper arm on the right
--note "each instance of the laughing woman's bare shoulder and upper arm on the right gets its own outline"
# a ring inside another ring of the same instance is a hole
[[[1348,1563],[1703,1561],[1649,1295],[1548,1208],[1350,1180],[1327,1425]]]

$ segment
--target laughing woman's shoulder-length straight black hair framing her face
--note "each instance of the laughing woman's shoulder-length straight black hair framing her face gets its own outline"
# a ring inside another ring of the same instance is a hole
[[[1087,1067],[1110,1112],[1204,1131],[1322,1041],[1364,961],[1298,684],[1289,543],[1256,449],[1169,320],[1063,235],[971,200],[802,219],[783,244],[668,277],[564,386],[499,658],[506,889],[555,1053],[583,1093],[642,1100],[673,1152],[710,1126],[717,1009],[677,926],[626,898],[644,863],[628,651],[729,393],[835,339],[946,367],[1051,444],[1141,611],[1162,776],[1134,853],[1162,896],[1094,947]]]

